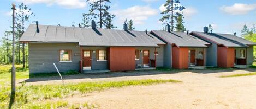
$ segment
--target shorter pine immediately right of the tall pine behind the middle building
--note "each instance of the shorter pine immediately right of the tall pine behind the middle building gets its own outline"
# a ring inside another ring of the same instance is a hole
[[[185,28],[185,26],[183,24],[184,23],[184,21],[183,21],[183,19],[184,19],[183,14],[176,12],[176,15],[177,15],[177,17],[175,17],[175,19],[177,21],[176,22],[176,26],[175,26],[176,31],[179,31],[179,32],[186,31],[186,28]]]

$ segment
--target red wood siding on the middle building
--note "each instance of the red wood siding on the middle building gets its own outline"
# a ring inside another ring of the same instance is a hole
[[[186,69],[188,68],[188,48],[172,47],[172,68]]]

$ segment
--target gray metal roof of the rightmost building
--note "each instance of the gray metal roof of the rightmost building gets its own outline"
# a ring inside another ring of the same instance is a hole
[[[218,33],[203,33],[192,32],[193,35],[200,37],[206,41],[210,41],[216,44],[222,44],[227,47],[248,47],[247,45],[255,45],[256,43],[242,39],[230,34],[218,34]]]

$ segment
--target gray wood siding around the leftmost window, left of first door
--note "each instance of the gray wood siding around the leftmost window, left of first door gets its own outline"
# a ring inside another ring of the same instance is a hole
[[[53,63],[59,69],[59,72],[68,70],[79,70],[80,49],[78,44],[70,43],[29,43],[29,73],[52,73],[57,72]],[[59,62],[59,50],[72,50],[72,62]]]

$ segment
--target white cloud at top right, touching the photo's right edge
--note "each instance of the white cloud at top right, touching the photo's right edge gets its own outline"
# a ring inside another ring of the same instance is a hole
[[[227,14],[244,15],[247,14],[249,11],[256,9],[256,4],[235,3],[231,6],[223,5],[220,9]]]

